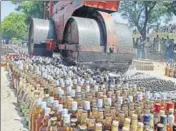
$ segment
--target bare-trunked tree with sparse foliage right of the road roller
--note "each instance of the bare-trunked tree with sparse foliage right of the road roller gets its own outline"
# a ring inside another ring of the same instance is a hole
[[[163,20],[168,22],[171,19],[171,13],[163,4],[161,1],[124,1],[121,3],[120,12],[145,40],[147,30],[158,26]]]

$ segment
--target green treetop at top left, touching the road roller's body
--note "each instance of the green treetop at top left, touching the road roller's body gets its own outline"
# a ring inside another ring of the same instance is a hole
[[[27,15],[27,22],[31,17],[44,17],[44,2],[42,1],[14,2],[14,4],[18,5],[17,11],[21,11]]]

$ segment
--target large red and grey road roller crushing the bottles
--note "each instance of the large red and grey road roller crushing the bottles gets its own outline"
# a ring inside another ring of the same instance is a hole
[[[132,32],[114,13],[120,1],[52,1],[44,3],[44,18],[31,18],[28,51],[52,56],[58,52],[76,64],[128,68],[136,56]]]

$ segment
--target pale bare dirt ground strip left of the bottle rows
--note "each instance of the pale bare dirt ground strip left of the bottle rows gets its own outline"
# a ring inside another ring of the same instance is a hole
[[[7,71],[1,67],[1,130],[26,131],[18,113],[17,99],[14,89],[10,88]]]

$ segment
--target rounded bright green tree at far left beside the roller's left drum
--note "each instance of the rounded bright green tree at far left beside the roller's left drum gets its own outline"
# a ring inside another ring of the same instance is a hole
[[[27,39],[26,15],[23,13],[10,13],[2,22],[3,38]]]

